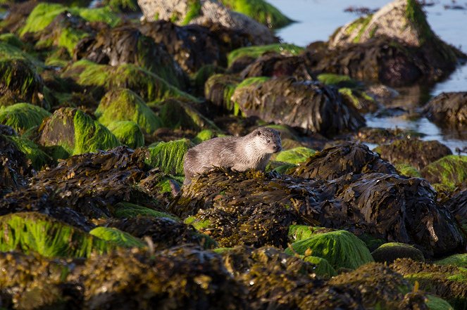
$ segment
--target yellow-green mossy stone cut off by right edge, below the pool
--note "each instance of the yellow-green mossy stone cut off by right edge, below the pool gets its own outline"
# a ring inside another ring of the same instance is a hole
[[[467,156],[448,155],[428,164],[421,171],[430,183],[441,183],[454,189],[467,180]]]

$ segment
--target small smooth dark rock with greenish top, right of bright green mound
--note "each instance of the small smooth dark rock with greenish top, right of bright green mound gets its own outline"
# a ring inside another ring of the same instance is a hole
[[[423,253],[416,247],[405,243],[385,243],[371,252],[371,256],[379,263],[392,264],[396,259],[409,258],[414,261],[425,261]]]

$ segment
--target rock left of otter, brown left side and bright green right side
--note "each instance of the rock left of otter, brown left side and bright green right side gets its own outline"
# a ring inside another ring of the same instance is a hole
[[[120,145],[106,127],[74,108],[56,110],[44,120],[39,131],[41,146],[59,146],[69,155],[108,150]]]

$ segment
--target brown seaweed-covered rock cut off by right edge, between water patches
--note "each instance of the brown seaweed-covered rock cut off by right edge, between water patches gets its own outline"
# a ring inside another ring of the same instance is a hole
[[[440,126],[467,126],[467,92],[441,93],[425,105],[424,112]]]

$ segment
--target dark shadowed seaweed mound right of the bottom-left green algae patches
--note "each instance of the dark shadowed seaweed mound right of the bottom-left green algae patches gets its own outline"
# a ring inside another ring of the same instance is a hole
[[[152,240],[151,247],[156,250],[168,249],[176,245],[192,243],[208,249],[213,247],[212,240],[201,235],[192,228],[166,217],[133,217],[131,219],[113,219],[107,222],[110,227],[130,233],[136,238],[148,236]]]

